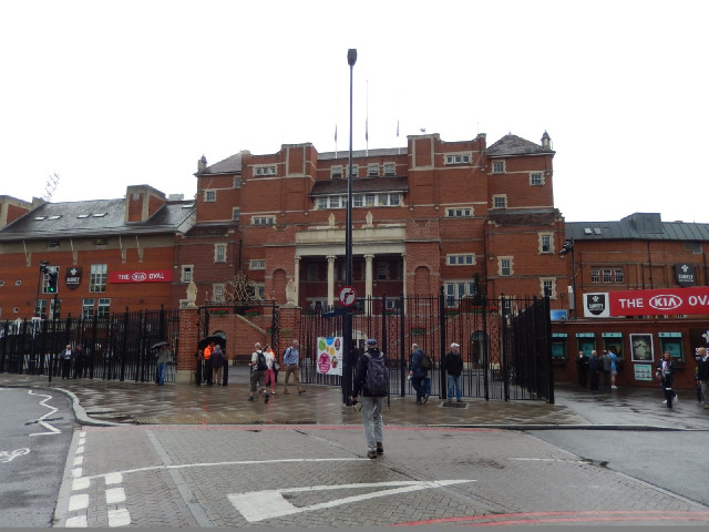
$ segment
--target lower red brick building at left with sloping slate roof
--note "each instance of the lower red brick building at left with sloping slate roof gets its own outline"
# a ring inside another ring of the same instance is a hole
[[[105,316],[177,305],[175,238],[194,223],[194,201],[147,185],[124,198],[32,204],[0,196],[0,319],[52,318],[40,269],[59,274],[58,316]]]

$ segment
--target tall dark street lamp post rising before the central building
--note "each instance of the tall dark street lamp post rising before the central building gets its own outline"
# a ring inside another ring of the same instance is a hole
[[[352,74],[357,62],[357,49],[347,51],[347,64],[350,65],[350,152],[347,173],[347,214],[345,221],[345,283],[352,286]],[[342,397],[346,405],[351,405],[352,396],[352,307],[346,307],[342,326],[345,344],[345,365],[342,367]]]

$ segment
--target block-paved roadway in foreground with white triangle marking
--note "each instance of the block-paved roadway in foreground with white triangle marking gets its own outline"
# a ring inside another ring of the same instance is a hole
[[[537,433],[387,427],[368,460],[357,426],[86,427],[56,524],[709,524],[706,505],[602,464],[616,451],[585,434],[593,460]]]

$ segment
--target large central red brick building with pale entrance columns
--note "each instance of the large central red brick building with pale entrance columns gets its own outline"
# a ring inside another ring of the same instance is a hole
[[[553,157],[542,144],[484,134],[444,142],[410,136],[405,149],[353,153],[352,278],[360,296],[452,298],[538,295],[557,300],[566,265],[564,221],[554,206]],[[311,144],[275,154],[242,152],[199,162],[197,223],[178,239],[181,278],[197,304],[222,300],[244,270],[266,299],[337,306],[345,284],[348,153]],[[377,310],[377,309],[372,309]]]

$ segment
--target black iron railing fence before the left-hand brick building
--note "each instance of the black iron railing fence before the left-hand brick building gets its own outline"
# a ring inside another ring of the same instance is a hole
[[[173,356],[165,380],[174,381],[178,323],[177,313],[166,310],[0,323],[0,372],[61,377],[61,354],[70,345],[80,354],[70,364],[72,378],[151,382],[156,380],[152,346],[167,341]]]

